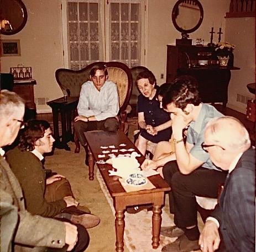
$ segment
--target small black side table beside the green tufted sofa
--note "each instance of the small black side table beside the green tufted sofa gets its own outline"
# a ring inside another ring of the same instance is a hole
[[[67,101],[64,97],[55,100],[48,101],[53,111],[53,132],[55,138],[55,147],[58,149],[65,149],[70,151],[70,147],[67,142],[71,141],[72,128],[71,128],[71,115],[75,113],[79,97],[67,97]],[[61,136],[59,133],[59,113],[61,118]],[[61,141],[60,141],[61,138]]]

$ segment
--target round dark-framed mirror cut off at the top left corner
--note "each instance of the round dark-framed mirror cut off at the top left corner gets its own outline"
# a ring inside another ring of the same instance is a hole
[[[1,34],[13,35],[27,23],[28,13],[21,0],[0,1]]]

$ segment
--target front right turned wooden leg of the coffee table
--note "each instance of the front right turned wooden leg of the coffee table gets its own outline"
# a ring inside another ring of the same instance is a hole
[[[153,236],[152,236],[152,246],[153,249],[157,249],[159,246],[159,235],[160,235],[160,228],[161,228],[161,206],[153,205],[153,216],[152,216],[152,229],[153,229]]]

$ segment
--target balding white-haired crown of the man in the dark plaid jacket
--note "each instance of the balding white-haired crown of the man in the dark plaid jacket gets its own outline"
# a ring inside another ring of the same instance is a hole
[[[241,121],[233,116],[223,116],[211,119],[206,125],[206,130],[211,132],[213,141],[221,145],[225,143],[228,149],[246,150],[250,147],[250,137],[247,129]],[[224,134],[226,138],[220,139],[218,134]]]

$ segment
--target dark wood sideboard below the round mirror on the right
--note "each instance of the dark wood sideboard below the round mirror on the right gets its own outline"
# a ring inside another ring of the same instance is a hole
[[[167,45],[166,82],[181,75],[196,79],[203,103],[222,103],[226,108],[231,70],[239,67],[220,67],[214,47]]]

